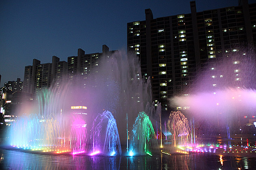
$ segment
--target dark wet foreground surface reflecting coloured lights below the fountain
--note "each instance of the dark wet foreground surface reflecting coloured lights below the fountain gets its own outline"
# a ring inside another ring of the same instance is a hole
[[[209,153],[147,155],[141,157],[89,157],[41,155],[0,149],[3,170],[243,170],[256,169],[256,157]]]

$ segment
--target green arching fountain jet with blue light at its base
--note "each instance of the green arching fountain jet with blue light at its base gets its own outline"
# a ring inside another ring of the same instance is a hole
[[[145,114],[140,112],[133,124],[132,141],[130,142],[129,155],[159,153],[159,147],[155,138],[152,123]]]

